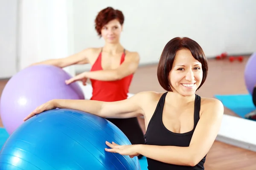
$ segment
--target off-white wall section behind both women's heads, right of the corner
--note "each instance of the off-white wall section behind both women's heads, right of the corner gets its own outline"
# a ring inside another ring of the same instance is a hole
[[[207,57],[227,51],[256,51],[256,0],[74,0],[74,51],[104,44],[94,30],[97,13],[107,6],[125,15],[121,42],[141,55],[140,64],[158,62],[173,37],[190,37]],[[83,71],[90,66],[76,66]]]

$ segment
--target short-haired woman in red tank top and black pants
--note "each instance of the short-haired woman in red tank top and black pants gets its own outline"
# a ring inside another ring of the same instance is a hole
[[[87,48],[69,57],[49,59],[32,65],[48,64],[64,68],[74,64],[90,64],[92,65],[90,71],[67,80],[66,84],[82,81],[86,85],[87,79],[90,79],[93,88],[91,100],[115,102],[127,99],[129,86],[138,68],[140,56],[137,52],[125,50],[120,44],[119,38],[123,23],[122,11],[111,7],[102,9],[95,19],[95,29],[99,37],[105,40],[103,48]],[[132,144],[144,144],[143,118],[108,120],[119,127]]]

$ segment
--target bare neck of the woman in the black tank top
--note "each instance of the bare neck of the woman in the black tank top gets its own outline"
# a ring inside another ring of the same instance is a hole
[[[172,105],[179,106],[179,107],[186,106],[190,102],[195,101],[195,94],[193,94],[192,96],[182,96],[182,95],[178,94],[177,92],[168,92],[167,95],[169,95],[169,97],[170,97],[169,101],[172,102]]]

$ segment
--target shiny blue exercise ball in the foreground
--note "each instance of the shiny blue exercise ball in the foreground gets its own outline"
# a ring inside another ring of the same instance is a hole
[[[105,151],[105,141],[131,144],[108,120],[72,109],[53,109],[18,127],[0,151],[3,170],[140,170],[137,157]]]

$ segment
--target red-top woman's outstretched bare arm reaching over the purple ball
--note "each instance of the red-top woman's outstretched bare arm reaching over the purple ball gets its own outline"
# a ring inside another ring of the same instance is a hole
[[[74,64],[87,64],[89,62],[87,59],[87,56],[90,55],[91,51],[92,50],[88,48],[83,51],[80,51],[79,53],[73,54],[69,57],[60,58],[60,59],[48,59],[43,62],[33,63],[32,65],[45,64],[45,65],[54,65],[60,68],[64,68]]]

